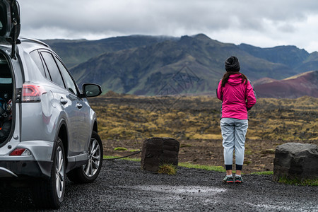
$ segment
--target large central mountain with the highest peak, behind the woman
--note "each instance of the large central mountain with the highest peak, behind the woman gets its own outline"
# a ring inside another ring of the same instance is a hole
[[[143,47],[107,52],[71,69],[78,83],[100,83],[107,92],[138,95],[214,93],[224,61],[237,55],[250,80],[285,78],[297,73],[281,63],[254,57],[240,47],[206,35],[183,36]]]

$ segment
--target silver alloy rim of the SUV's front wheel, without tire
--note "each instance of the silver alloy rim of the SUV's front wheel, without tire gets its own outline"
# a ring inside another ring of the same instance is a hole
[[[93,177],[100,167],[100,145],[96,139],[90,139],[88,163],[83,165],[86,176]]]

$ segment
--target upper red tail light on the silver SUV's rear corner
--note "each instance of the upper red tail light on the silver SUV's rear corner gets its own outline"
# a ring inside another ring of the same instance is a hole
[[[40,102],[41,95],[46,93],[42,86],[23,84],[22,86],[23,96],[22,102]]]

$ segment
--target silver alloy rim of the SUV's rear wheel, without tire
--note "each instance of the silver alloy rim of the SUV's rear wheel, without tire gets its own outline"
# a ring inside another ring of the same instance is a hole
[[[60,146],[57,148],[55,183],[57,189],[57,196],[61,198],[64,190],[64,157]]]

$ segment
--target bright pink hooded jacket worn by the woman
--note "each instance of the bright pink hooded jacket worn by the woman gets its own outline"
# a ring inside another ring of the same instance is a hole
[[[256,94],[252,83],[242,83],[240,73],[232,74],[228,82],[222,87],[222,80],[218,83],[216,95],[222,100],[221,118],[248,119],[247,110],[256,103]]]

